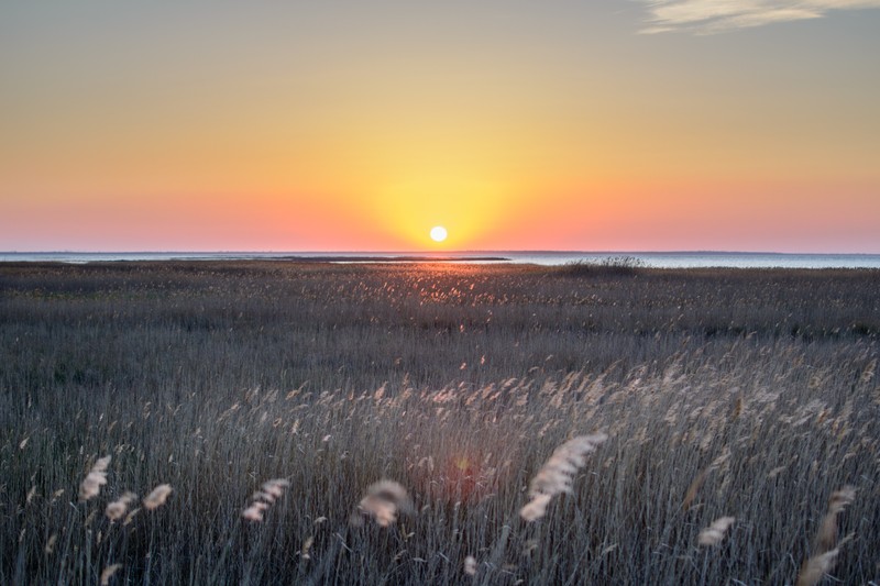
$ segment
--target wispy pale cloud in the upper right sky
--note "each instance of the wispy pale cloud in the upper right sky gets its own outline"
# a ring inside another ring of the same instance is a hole
[[[650,14],[642,33],[712,34],[773,22],[818,19],[832,10],[880,8],[880,0],[639,0]]]

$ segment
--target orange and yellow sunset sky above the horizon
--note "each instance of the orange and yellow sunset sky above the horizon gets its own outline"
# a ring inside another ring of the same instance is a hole
[[[880,253],[878,31],[880,0],[3,2],[0,251]]]

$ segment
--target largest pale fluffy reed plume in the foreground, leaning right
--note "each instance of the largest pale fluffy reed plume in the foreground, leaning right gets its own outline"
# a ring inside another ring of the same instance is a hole
[[[550,460],[535,475],[529,485],[529,500],[519,511],[527,522],[540,519],[547,513],[550,500],[561,493],[571,493],[574,474],[586,463],[586,454],[608,439],[605,433],[579,435],[553,451]]]

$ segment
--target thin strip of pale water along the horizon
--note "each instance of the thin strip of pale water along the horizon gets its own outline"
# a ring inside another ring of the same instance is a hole
[[[0,263],[107,263],[120,261],[311,261],[331,263],[516,263],[566,265],[635,259],[651,268],[880,268],[880,254],[790,254],[770,252],[0,252]]]

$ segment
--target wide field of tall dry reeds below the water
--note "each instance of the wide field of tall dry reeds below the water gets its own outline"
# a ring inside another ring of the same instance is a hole
[[[2,584],[880,584],[880,273],[0,265]]]

